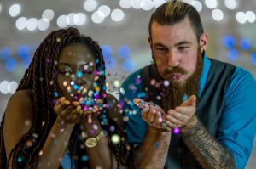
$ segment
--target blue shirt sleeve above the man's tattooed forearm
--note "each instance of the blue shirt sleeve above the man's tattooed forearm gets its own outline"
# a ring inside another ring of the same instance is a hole
[[[231,150],[236,168],[245,168],[256,130],[256,82],[246,70],[236,68],[231,76],[220,119],[218,140]]]

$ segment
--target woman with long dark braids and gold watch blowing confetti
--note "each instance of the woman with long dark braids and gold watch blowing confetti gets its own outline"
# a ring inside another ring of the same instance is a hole
[[[97,42],[75,28],[51,32],[3,115],[0,168],[133,167],[105,80]]]

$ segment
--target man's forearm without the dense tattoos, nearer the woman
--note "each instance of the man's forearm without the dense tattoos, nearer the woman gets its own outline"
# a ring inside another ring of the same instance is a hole
[[[171,141],[171,132],[162,132],[154,127],[148,127],[143,144],[137,149],[137,168],[164,168],[166,156]]]

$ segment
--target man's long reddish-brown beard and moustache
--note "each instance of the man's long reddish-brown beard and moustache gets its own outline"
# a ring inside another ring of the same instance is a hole
[[[201,49],[198,48],[197,51],[197,61],[196,61],[196,67],[194,73],[189,76],[189,78],[186,80],[186,82],[183,83],[183,85],[180,82],[175,81],[169,81],[170,84],[168,87],[162,87],[162,91],[164,93],[164,96],[162,97],[162,108],[165,110],[174,109],[178,105],[182,104],[183,99],[189,98],[190,95],[198,96],[199,91],[199,81],[201,76],[201,70],[203,66],[203,55],[204,52],[201,53]],[[166,68],[165,75],[171,75],[173,73],[180,73],[185,74],[186,70],[183,70],[180,67],[172,67],[172,69]]]

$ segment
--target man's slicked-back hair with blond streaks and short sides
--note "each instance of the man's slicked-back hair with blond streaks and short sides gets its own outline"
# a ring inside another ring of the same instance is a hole
[[[178,0],[164,3],[159,8],[156,8],[149,21],[149,36],[152,36],[151,27],[153,22],[157,22],[159,25],[174,25],[183,21],[186,17],[189,18],[190,25],[199,42],[200,37],[204,32],[200,15],[193,6],[189,5],[189,3],[184,3]]]

